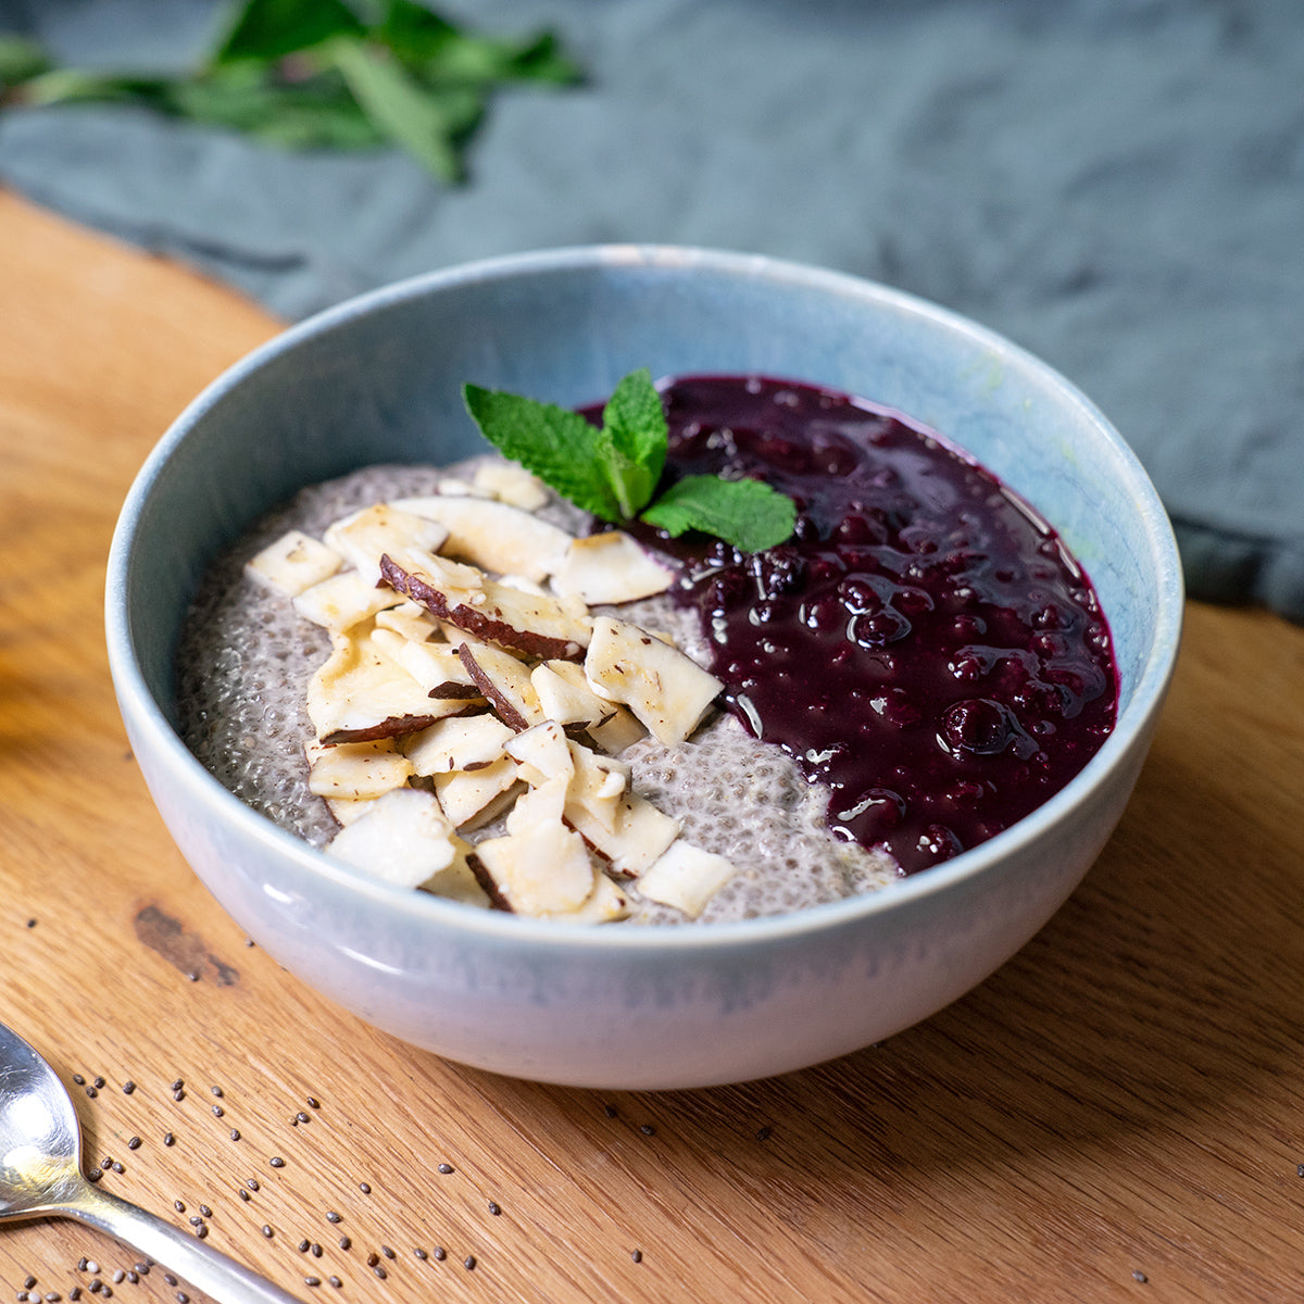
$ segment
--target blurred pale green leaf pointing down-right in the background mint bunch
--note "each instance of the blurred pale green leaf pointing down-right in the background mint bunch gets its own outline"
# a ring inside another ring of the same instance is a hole
[[[430,95],[398,60],[363,40],[333,40],[330,56],[377,130],[441,180],[462,180],[456,136],[466,130],[464,100],[450,106]]]

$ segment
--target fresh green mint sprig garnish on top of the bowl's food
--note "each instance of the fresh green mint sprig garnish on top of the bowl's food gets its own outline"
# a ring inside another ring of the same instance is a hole
[[[576,507],[613,524],[639,519],[672,537],[690,529],[755,553],[784,542],[793,501],[760,480],[685,476],[653,502],[668,426],[647,368],[630,372],[602,409],[601,428],[578,412],[519,394],[463,386],[481,434]]]

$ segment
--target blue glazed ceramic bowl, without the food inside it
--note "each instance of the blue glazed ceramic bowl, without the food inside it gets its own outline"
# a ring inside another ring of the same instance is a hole
[[[223,789],[176,733],[172,655],[214,554],[312,481],[482,446],[464,381],[567,406],[655,374],[756,372],[901,408],[1056,526],[1094,580],[1118,726],[1005,833],[879,893],[682,928],[476,911],[372,882]],[[1104,417],[1050,368],[863,280],[678,248],[524,254],[419,276],[322,313],[201,394],[150,455],[108,570],[108,652],[153,797],[196,874],[282,965],[342,1007],[466,1064],[608,1089],[801,1068],[928,1017],[1013,955],[1123,812],[1178,651],[1176,548]]]

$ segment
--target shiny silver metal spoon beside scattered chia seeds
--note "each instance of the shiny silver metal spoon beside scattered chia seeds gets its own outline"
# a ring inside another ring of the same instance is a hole
[[[299,1304],[278,1286],[155,1214],[91,1185],[77,1111],[53,1069],[0,1024],[0,1221],[90,1223],[230,1304]]]

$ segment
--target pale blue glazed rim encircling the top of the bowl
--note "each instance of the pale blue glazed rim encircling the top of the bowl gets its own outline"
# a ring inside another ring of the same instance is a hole
[[[567,270],[593,271],[602,267],[681,271],[698,269],[729,278],[754,278],[799,284],[806,289],[833,293],[844,299],[871,300],[895,312],[922,317],[934,326],[965,335],[974,344],[995,352],[1003,360],[1017,364],[1033,378],[1056,390],[1064,400],[1078,409],[1081,416],[1098,428],[1134,492],[1145,526],[1145,537],[1154,557],[1158,599],[1155,627],[1131,700],[1119,713],[1114,730],[1099,751],[1059,793],[979,846],[876,891],[807,906],[786,914],[752,919],[673,927],[600,928],[583,923],[535,919],[505,911],[476,909],[370,878],[340,861],[334,861],[325,852],[274,824],[267,816],[246,806],[203,768],[172,728],[145,682],[136,657],[132,621],[126,609],[126,595],[130,591],[129,575],[137,544],[136,527],[176,449],[185,442],[197,422],[248,376],[269,365],[283,353],[293,351],[306,340],[329,333],[356,317],[415,297],[482,282]],[[835,931],[876,915],[895,914],[941,895],[958,884],[981,878],[992,866],[1017,853],[1021,846],[1033,844],[1048,833],[1063,816],[1090,801],[1093,794],[1099,792],[1114,768],[1125,760],[1133,746],[1148,739],[1149,730],[1163,704],[1176,661],[1184,609],[1184,584],[1171,523],[1140,459],[1108,419],[1071,381],[1050,364],[1005,336],[952,309],[850,273],[833,271],[765,254],[735,253],[703,246],[593,244],[501,254],[407,276],[326,308],[288,326],[244,355],[186,404],[155,443],[136,475],[113,529],[108,554],[104,608],[110,669],[124,720],[143,729],[149,743],[160,748],[162,764],[167,765],[185,785],[190,799],[203,803],[214,818],[233,822],[245,838],[261,845],[265,852],[287,857],[300,872],[309,878],[323,878],[336,888],[369,898],[377,906],[403,915],[406,921],[446,928],[468,938],[480,936],[485,940],[529,945],[541,951],[559,949],[566,953],[574,953],[576,947],[588,952],[698,953],[703,948],[715,951],[717,948],[733,949],[756,944],[792,943],[810,934],[825,930]],[[194,872],[193,867],[192,872]]]

